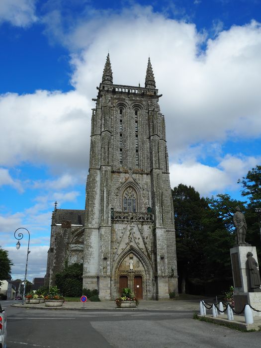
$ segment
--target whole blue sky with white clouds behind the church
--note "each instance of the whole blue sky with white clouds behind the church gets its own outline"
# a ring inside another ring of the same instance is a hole
[[[83,209],[90,115],[110,52],[115,84],[144,84],[166,117],[171,184],[240,198],[261,163],[261,1],[1,0],[0,245],[44,276],[54,202]]]

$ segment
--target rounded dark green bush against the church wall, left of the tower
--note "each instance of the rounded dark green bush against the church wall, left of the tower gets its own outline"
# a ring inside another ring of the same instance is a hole
[[[55,275],[57,287],[64,296],[77,297],[82,295],[83,264],[73,263],[65,265],[65,269]]]

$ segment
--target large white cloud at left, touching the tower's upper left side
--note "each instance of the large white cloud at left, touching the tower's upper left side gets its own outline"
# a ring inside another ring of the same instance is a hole
[[[77,91],[1,95],[0,164],[46,164],[58,172],[87,168],[90,108]]]

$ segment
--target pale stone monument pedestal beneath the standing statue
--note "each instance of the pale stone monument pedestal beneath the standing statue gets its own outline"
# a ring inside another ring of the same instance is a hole
[[[247,254],[251,252],[253,258],[258,261],[256,247],[237,246],[230,249],[230,257],[234,281],[234,302],[235,311],[242,311],[245,303],[253,308],[261,310],[261,291],[250,287],[250,277]],[[252,290],[252,291],[251,291]],[[253,316],[261,316],[261,312],[253,311]]]

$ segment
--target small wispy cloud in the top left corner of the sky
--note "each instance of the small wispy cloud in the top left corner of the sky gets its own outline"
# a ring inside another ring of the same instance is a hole
[[[36,22],[35,0],[1,0],[0,23],[7,21],[14,26],[26,27]]]

